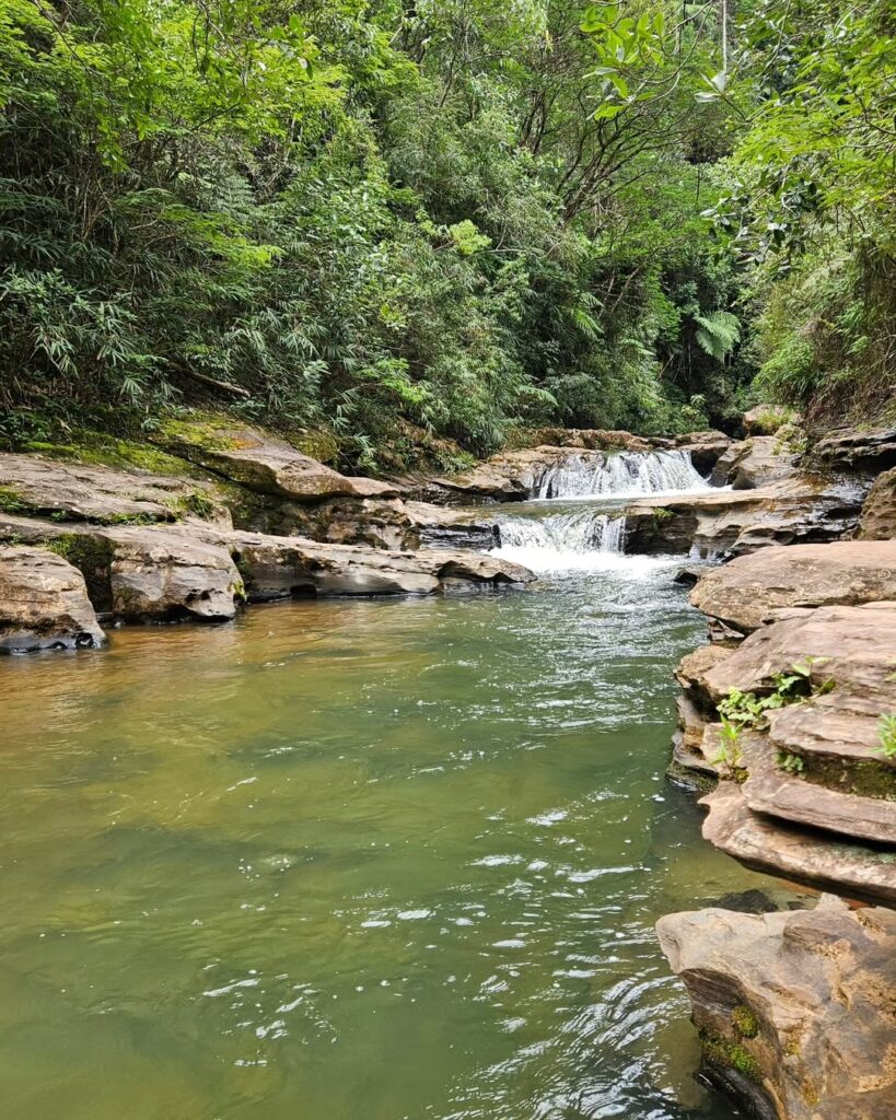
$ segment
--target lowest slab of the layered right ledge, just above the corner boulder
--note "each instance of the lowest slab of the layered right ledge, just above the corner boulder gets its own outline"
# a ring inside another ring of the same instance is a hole
[[[750,811],[737,782],[720,782],[700,801],[703,839],[765,875],[896,906],[896,851],[830,836]]]

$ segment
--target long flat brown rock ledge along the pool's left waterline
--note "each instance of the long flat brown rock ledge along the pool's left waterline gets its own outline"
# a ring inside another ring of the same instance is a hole
[[[200,523],[105,526],[6,515],[2,538],[17,543],[2,547],[0,650],[22,652],[102,644],[97,613],[113,622],[226,622],[246,601],[493,590],[534,579],[474,552],[324,544]]]

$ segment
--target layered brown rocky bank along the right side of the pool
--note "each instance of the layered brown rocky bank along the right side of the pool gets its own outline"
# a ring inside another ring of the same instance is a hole
[[[843,433],[781,464],[767,487],[757,478],[754,495],[818,472],[814,525],[797,517],[793,532],[786,507],[741,506],[735,559],[691,591],[710,644],[676,670],[670,776],[710,790],[709,842],[829,892],[805,913],[708,909],[657,925],[703,1073],[763,1120],[896,1116],[895,452],[895,432]],[[867,494],[860,508],[824,512],[825,467]],[[759,550],[806,540],[827,543]]]

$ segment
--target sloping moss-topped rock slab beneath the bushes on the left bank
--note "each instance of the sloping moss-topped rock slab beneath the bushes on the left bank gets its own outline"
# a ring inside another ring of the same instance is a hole
[[[260,494],[295,502],[326,497],[394,497],[399,487],[373,478],[348,478],[276,436],[222,421],[169,421],[155,437],[164,447]]]

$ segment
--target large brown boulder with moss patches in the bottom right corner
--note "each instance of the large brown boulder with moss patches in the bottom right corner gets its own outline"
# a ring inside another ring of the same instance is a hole
[[[684,981],[704,1071],[768,1120],[896,1116],[896,914],[670,914],[656,925]]]

